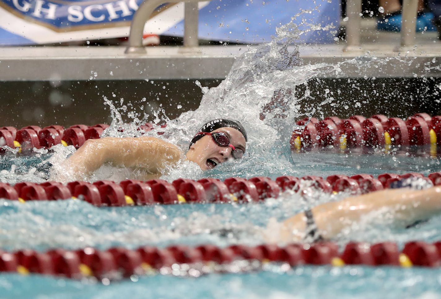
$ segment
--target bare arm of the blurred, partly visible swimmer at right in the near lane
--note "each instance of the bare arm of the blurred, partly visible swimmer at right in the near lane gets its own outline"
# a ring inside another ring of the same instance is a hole
[[[381,209],[392,213],[394,219],[404,225],[427,219],[441,213],[441,187],[376,191],[316,206],[312,213],[321,235],[330,239],[367,213]],[[290,217],[278,227],[278,240],[301,241],[306,228],[305,214]]]

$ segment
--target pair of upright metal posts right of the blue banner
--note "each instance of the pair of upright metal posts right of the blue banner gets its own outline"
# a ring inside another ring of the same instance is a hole
[[[345,51],[359,51],[361,48],[360,24],[362,0],[348,0],[346,2],[346,16],[348,23],[346,26]],[[416,17],[418,9],[418,0],[403,0],[402,19],[401,19],[401,45],[400,49],[411,47],[415,44]]]

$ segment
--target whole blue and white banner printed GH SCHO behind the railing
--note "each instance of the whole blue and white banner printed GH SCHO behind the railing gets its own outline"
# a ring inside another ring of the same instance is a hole
[[[0,45],[30,45],[127,37],[142,0],[0,0]],[[294,17],[294,19],[293,19]],[[340,2],[333,0],[213,0],[199,3],[199,38],[237,43],[271,40],[288,22],[304,32],[299,42],[332,43]],[[310,26],[317,30],[310,30]],[[146,34],[183,36],[183,3],[164,4]]]

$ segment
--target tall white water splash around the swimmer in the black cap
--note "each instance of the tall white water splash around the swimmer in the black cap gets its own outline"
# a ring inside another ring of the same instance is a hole
[[[242,161],[221,164],[208,172],[201,172],[195,164],[182,162],[170,169],[163,178],[172,180],[179,177],[198,179],[202,176],[275,177],[299,174],[297,161],[292,161],[288,143],[292,131],[301,129],[295,125],[295,120],[304,116],[323,118],[325,115],[322,106],[341,105],[340,91],[338,94],[330,92],[327,86],[322,86],[321,77],[341,77],[348,70],[354,69],[363,75],[369,74],[371,69],[380,72],[382,69],[386,70],[390,64],[413,63],[412,53],[408,52],[393,58],[378,58],[366,54],[335,64],[305,64],[300,57],[299,47],[292,45],[292,41],[307,30],[332,30],[332,26],[312,26],[305,21],[300,24],[302,30],[299,30],[299,25],[294,21],[309,12],[301,11],[293,17],[292,22],[277,28],[277,36],[273,41],[249,47],[247,52],[237,58],[228,76],[219,86],[209,89],[196,81],[203,93],[201,105],[196,110],[184,112],[177,119],[170,120],[164,107],[159,107],[159,110],[153,113],[153,123],[167,123],[167,127],[161,129],[164,135],[157,135],[158,130],[139,130],[139,126],[145,123],[148,117],[142,110],[136,111],[139,105],[127,103],[124,99],[112,101],[103,97],[110,110],[112,123],[102,136],[157,136],[178,145],[185,153],[189,140],[203,123],[219,117],[232,118],[243,123],[249,135],[247,152]],[[431,68],[430,63],[424,67],[428,72],[437,71],[436,67]],[[311,80],[322,86],[321,94],[310,91]],[[354,89],[359,90],[359,87],[355,85]],[[368,103],[369,99],[354,101],[355,106],[362,108],[362,104]],[[140,104],[142,109],[144,105],[149,105],[149,101],[143,98]],[[127,123],[123,118],[131,121]],[[277,173],[274,169],[277,169]],[[130,173],[121,173],[120,168],[105,167],[96,172],[90,180],[121,180],[130,176]]]

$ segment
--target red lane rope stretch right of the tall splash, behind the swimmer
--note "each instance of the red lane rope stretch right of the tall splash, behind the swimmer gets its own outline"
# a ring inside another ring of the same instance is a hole
[[[292,149],[334,146],[342,149],[360,146],[440,145],[441,116],[416,113],[406,120],[376,114],[369,118],[354,115],[341,120],[336,116],[318,120],[299,120],[303,130],[294,131]]]

